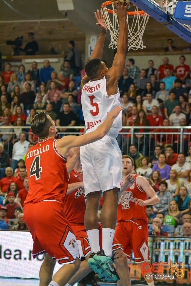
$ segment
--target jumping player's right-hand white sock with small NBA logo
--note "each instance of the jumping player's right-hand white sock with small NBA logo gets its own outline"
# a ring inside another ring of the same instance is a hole
[[[104,227],[102,229],[102,249],[105,252],[106,256],[112,256],[112,245],[115,229],[108,229]]]

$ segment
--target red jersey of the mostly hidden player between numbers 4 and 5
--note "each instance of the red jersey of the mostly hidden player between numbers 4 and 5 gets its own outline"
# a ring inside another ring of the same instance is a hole
[[[68,184],[83,181],[83,173],[72,170],[69,175]],[[64,214],[70,223],[84,224],[86,209],[86,197],[84,187],[79,187],[64,198]]]

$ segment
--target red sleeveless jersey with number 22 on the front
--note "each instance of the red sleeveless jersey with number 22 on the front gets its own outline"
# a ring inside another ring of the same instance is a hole
[[[139,175],[135,175],[135,183],[127,188],[124,192],[119,195],[118,200],[118,214],[117,220],[135,220],[142,219],[147,220],[146,206],[136,206],[135,198],[141,200],[147,200],[147,194],[138,186],[137,178]]]

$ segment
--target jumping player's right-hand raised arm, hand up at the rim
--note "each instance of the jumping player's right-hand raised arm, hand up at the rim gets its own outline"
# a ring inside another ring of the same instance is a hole
[[[125,1],[120,2],[114,0],[115,12],[119,18],[119,35],[117,40],[117,53],[113,60],[113,66],[109,69],[108,73],[115,72],[115,75],[119,78],[124,71],[125,60],[127,56],[127,7],[129,4]],[[107,74],[108,74],[107,73]]]

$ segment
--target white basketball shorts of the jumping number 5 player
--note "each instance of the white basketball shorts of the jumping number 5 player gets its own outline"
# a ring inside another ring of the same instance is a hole
[[[122,155],[115,138],[102,139],[80,147],[85,194],[121,188]]]

